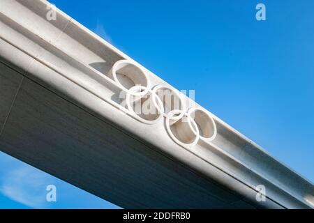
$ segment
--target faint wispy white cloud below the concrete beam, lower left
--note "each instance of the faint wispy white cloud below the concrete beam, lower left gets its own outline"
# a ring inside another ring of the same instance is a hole
[[[45,173],[23,165],[8,171],[3,177],[0,192],[31,208],[48,208],[45,189],[50,182],[50,177]]]

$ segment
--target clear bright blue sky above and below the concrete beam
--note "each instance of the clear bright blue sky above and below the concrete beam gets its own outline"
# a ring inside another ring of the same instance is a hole
[[[314,181],[314,1],[50,2]],[[37,207],[117,206],[0,153],[0,208]]]

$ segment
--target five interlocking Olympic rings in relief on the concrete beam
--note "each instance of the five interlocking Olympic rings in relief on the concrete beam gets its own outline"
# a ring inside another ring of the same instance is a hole
[[[180,146],[190,148],[200,140],[215,139],[216,123],[207,110],[197,107],[186,110],[181,94],[167,86],[156,85],[151,89],[147,74],[135,63],[117,61],[107,75],[126,92],[130,114],[147,124],[158,123],[164,117],[167,133]]]

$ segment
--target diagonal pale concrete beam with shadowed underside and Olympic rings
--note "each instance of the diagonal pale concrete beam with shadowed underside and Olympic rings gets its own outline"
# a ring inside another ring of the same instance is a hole
[[[1,0],[1,151],[124,208],[313,208],[308,180],[50,10]],[[144,95],[156,114],[134,111]]]

